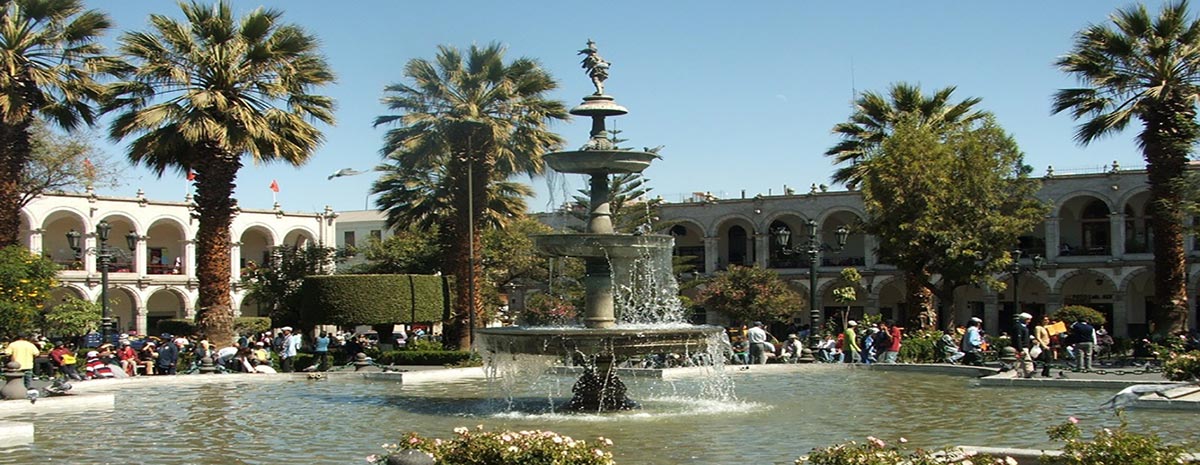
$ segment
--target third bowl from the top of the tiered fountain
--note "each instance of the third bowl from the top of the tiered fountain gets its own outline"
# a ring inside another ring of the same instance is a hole
[[[673,238],[661,234],[547,234],[530,236],[533,246],[547,255],[601,259],[636,259],[652,250],[671,248]]]

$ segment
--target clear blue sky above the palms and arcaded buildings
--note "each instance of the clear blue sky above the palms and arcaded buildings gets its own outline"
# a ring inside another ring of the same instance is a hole
[[[120,31],[145,30],[150,13],[179,16],[169,1],[91,0]],[[1159,0],[1147,0],[1154,11]],[[242,207],[278,201],[288,211],[361,210],[376,174],[326,180],[340,168],[380,162],[388,113],[383,87],[403,81],[404,62],[432,58],[439,44],[466,48],[500,42],[508,56],[528,56],[558,79],[551,97],[574,107],[593,91],[580,68],[581,49],[595,40],[610,62],[607,93],[629,108],[616,119],[629,146],[665,145],[646,171],[653,193],[679,201],[691,192],[721,198],[799,192],[828,183],[833,165],[822,153],[836,143],[830,128],[851,113],[853,91],[884,91],[918,83],[928,92],[958,86],[956,99],[982,97],[1018,140],[1034,174],[1100,169],[1117,161],[1144,165],[1134,138],[1140,125],[1079,146],[1075,121],[1050,114],[1050,96],[1074,86],[1054,66],[1076,31],[1108,23],[1127,1],[234,1],[239,14],[259,5],[284,11],[322,43],[337,73],[324,93],[337,101],[337,125],[308,164],[252,165],[239,175]],[[1200,8],[1196,8],[1200,10]],[[612,120],[610,120],[612,121]],[[588,121],[553,128],[570,147],[587,139]],[[102,132],[102,133],[107,133]],[[125,145],[100,147],[118,163]],[[546,211],[586,186],[578,175],[527,180],[538,191],[530,210]],[[134,168],[125,186],[101,194],[182,200],[188,183],[173,173],[157,179]],[[840,188],[840,187],[834,187]]]

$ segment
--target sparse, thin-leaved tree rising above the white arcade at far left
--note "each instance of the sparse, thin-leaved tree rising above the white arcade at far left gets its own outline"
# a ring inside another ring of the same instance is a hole
[[[34,120],[30,134],[20,206],[46,192],[120,186],[121,170],[91,145],[92,134],[60,134],[41,120]]]

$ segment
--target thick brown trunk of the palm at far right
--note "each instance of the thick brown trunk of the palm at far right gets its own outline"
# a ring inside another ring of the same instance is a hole
[[[1186,98],[1169,98],[1142,116],[1139,138],[1150,183],[1151,227],[1154,231],[1154,333],[1169,336],[1187,328],[1187,262],[1183,216],[1177,182],[1192,145],[1200,135],[1196,113]]]

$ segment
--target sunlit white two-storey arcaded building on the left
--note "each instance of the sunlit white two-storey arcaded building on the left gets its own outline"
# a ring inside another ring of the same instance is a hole
[[[61,286],[54,290],[52,302],[66,296],[98,301],[102,244],[96,232],[101,222],[107,223],[114,327],[145,334],[158,320],[196,315],[194,240],[199,223],[193,211],[190,197],[172,203],[148,200],[140,193],[132,199],[100,197],[91,191],[47,194],[22,209],[20,237],[30,250],[62,266]],[[275,246],[334,243],[336,218],[328,206],[316,213],[284,212],[278,204],[274,210],[236,211],[230,225],[236,242],[229,244],[236,313],[265,314],[246,297],[244,270],[269,262]],[[68,241],[72,231],[78,232],[78,249]]]

